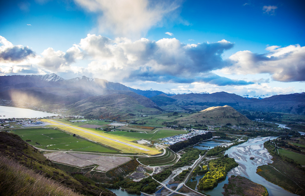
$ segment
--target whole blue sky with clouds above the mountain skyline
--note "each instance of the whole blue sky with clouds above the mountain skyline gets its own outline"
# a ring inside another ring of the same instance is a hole
[[[0,75],[87,76],[136,89],[305,91],[304,1],[11,0]]]

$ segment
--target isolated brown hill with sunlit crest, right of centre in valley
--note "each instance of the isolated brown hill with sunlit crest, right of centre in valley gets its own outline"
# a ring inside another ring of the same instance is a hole
[[[225,125],[253,124],[246,116],[237,112],[231,106],[210,107],[200,112],[182,117],[178,120],[180,124],[206,124],[206,125]]]

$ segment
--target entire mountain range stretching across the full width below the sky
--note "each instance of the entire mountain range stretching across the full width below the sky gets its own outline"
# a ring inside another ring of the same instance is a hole
[[[186,92],[184,92],[186,93]],[[247,98],[226,92],[170,94],[139,90],[120,83],[88,77],[65,80],[55,73],[47,75],[0,76],[2,105],[71,114],[107,117],[162,112],[195,112],[212,106],[234,109],[305,114],[305,93]]]

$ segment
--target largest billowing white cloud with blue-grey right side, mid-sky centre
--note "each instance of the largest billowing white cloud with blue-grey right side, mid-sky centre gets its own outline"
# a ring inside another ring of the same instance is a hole
[[[115,77],[117,74],[126,80],[137,78],[144,81],[187,82],[201,77],[201,73],[226,66],[221,55],[233,44],[222,40],[210,44],[185,45],[175,38],[159,41],[145,38],[137,41],[127,38],[111,40],[101,35],[88,34],[81,39],[78,47],[85,58],[92,60],[88,69],[97,75],[107,73],[106,77],[112,74],[111,77]]]

